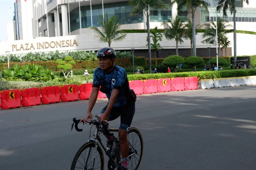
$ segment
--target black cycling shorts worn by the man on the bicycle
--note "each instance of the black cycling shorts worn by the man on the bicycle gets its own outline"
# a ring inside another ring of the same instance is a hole
[[[107,107],[108,105],[106,105],[102,109],[101,114],[106,111]],[[134,113],[135,113],[135,102],[129,102],[127,105],[113,107],[108,117],[109,117],[109,121],[111,121],[121,116],[119,129],[128,131],[128,128],[131,126]]]

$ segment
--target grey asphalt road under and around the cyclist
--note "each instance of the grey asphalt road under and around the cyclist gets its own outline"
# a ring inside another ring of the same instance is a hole
[[[106,103],[99,99],[94,115]],[[89,125],[70,132],[72,118],[84,117],[87,105],[88,100],[1,110],[0,170],[69,170],[89,139]],[[137,96],[132,126],[145,145],[140,169],[256,169],[255,110],[256,86]]]

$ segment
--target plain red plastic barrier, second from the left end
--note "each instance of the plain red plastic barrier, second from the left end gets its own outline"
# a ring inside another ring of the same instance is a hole
[[[21,90],[21,104],[23,107],[41,105],[41,89],[25,88]]]

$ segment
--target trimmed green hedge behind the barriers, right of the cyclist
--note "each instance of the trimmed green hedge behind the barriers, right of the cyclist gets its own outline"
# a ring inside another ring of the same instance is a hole
[[[223,70],[223,71],[194,71],[182,73],[158,73],[158,74],[129,74],[128,80],[162,79],[175,77],[198,77],[198,79],[215,79],[225,77],[255,76],[256,69]]]

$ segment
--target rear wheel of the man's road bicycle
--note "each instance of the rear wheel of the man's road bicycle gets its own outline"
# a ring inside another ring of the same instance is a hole
[[[144,144],[143,144],[143,138],[141,136],[140,130],[138,130],[135,127],[131,127],[128,130],[128,141],[129,141],[129,156],[131,156],[130,159],[128,159],[128,170],[138,170],[142,161],[143,157],[143,150],[144,150]],[[121,154],[121,147],[119,147],[119,154],[121,161],[122,154]]]

